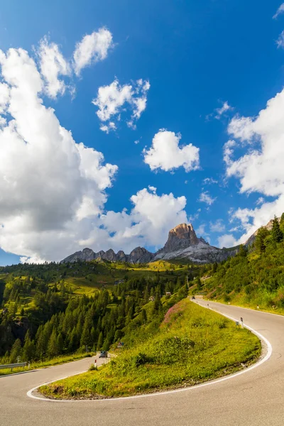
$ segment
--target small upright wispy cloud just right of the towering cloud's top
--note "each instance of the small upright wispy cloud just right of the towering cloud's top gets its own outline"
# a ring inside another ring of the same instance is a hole
[[[40,59],[40,72],[43,75],[46,87],[45,92],[51,98],[56,98],[58,94],[65,92],[65,82],[59,80],[59,75],[70,75],[70,65],[63,58],[62,53],[55,43],[49,43],[48,38],[40,40],[38,49]]]

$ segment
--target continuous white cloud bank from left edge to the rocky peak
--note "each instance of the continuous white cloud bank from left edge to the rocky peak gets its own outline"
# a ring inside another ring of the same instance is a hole
[[[165,243],[168,231],[188,222],[185,197],[132,195],[130,212],[105,212],[116,165],[76,143],[55,110],[40,98],[45,81],[23,49],[0,51],[0,247],[21,261],[59,261],[84,246],[131,251]],[[113,234],[114,233],[114,234]]]

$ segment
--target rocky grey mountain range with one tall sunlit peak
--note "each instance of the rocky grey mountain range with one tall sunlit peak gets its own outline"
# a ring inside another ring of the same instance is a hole
[[[160,259],[171,260],[176,258],[185,258],[195,263],[221,262],[237,253],[238,248],[218,249],[210,246],[204,239],[197,238],[192,224],[180,224],[171,229],[168,234],[168,241],[163,249],[157,253],[151,253],[143,247],[136,247],[130,254],[120,250],[114,253],[112,249],[99,251],[95,253],[92,249],[77,251],[61,262],[76,261],[111,261],[111,262],[129,262],[129,263],[148,263]]]

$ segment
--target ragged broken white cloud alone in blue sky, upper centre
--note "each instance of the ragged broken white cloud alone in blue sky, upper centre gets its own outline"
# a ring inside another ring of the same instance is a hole
[[[92,104],[99,108],[97,116],[104,123],[100,129],[107,133],[116,129],[116,124],[110,120],[119,121],[126,107],[129,107],[131,111],[131,118],[127,121],[127,125],[135,129],[136,121],[146,109],[148,89],[150,89],[150,83],[141,79],[123,86],[116,79],[109,86],[99,87],[97,97],[92,100]]]

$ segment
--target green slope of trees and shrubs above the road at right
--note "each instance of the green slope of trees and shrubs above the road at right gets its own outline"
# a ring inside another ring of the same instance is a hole
[[[283,308],[284,214],[273,219],[271,230],[259,229],[252,246],[241,246],[235,257],[210,269],[211,278],[201,281],[209,297]]]

